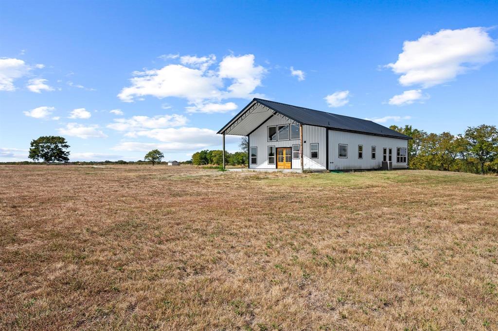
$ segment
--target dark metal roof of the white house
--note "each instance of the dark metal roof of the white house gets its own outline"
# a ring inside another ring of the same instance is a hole
[[[362,132],[374,135],[411,139],[411,137],[405,134],[391,130],[388,127],[385,127],[383,125],[380,125],[378,123],[375,123],[367,119],[338,115],[338,114],[333,114],[331,112],[292,106],[292,105],[282,104],[258,98],[254,98],[253,101],[256,101],[261,105],[266,106],[276,112],[279,112],[282,115],[285,115],[288,118],[302,124],[324,126],[341,131]],[[238,117],[239,114],[237,114],[236,117]],[[222,130],[220,130],[220,132]]]

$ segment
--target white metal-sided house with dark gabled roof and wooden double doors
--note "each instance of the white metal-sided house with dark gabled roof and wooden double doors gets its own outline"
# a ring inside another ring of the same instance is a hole
[[[257,98],[218,133],[223,150],[225,135],[247,136],[249,169],[262,171],[407,168],[411,139],[370,120]]]

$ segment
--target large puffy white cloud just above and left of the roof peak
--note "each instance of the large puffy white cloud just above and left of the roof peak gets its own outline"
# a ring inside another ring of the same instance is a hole
[[[216,57],[182,56],[182,64],[169,64],[161,69],[134,72],[131,85],[122,89],[118,97],[124,102],[135,98],[154,96],[162,99],[175,97],[191,104],[207,104],[227,98],[254,97],[253,91],[261,85],[266,70],[254,65],[254,55],[229,55],[223,58],[218,71],[207,70]],[[224,79],[231,85],[224,89]]]

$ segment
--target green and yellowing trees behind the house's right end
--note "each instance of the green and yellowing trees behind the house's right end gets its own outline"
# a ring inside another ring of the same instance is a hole
[[[411,125],[391,129],[411,136],[408,167],[441,171],[498,173],[498,130],[496,125],[469,126],[464,133],[427,133]]]

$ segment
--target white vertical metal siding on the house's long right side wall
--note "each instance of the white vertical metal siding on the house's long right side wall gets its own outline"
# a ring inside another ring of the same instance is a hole
[[[348,145],[348,158],[339,158],[339,144]],[[358,158],[358,145],[363,145],[363,159]],[[372,159],[372,146],[376,158]],[[370,134],[329,130],[329,170],[379,169],[382,148],[392,148],[392,167],[408,168],[407,163],[396,162],[396,147],[408,148],[408,140]]]

